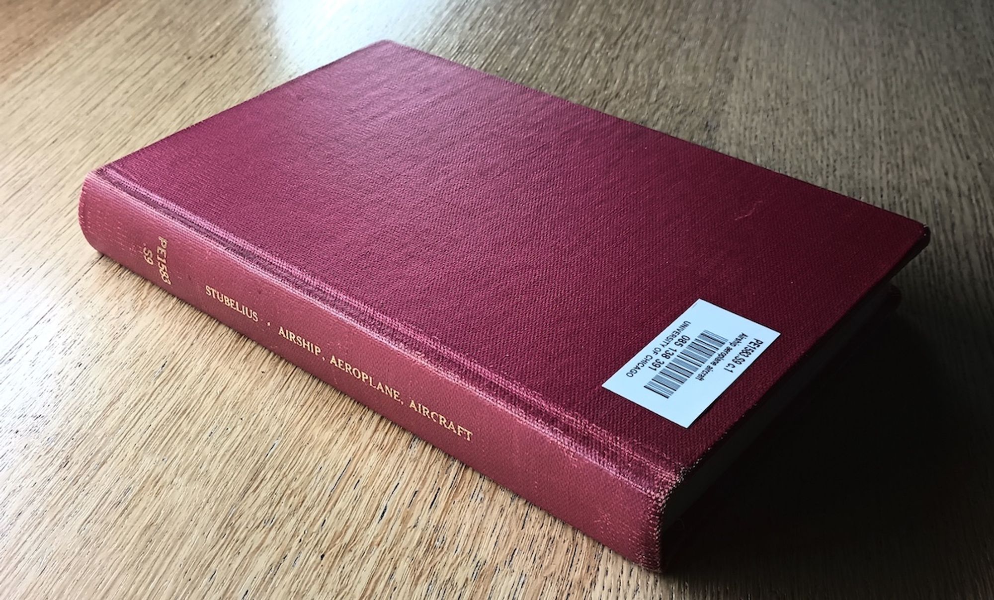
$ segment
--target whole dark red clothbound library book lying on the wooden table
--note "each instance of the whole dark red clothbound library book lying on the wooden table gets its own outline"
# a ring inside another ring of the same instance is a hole
[[[649,567],[927,240],[392,43],[93,171],[80,223],[100,252]]]

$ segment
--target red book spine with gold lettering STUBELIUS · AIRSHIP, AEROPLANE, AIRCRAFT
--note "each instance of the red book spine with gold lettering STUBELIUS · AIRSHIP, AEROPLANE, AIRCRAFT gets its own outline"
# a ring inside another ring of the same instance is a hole
[[[651,485],[287,284],[106,169],[86,177],[80,197],[83,234],[99,252],[625,557],[659,567],[661,501]]]

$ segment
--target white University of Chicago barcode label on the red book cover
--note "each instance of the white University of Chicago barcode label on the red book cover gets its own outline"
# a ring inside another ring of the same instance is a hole
[[[779,335],[698,300],[604,387],[690,427]]]

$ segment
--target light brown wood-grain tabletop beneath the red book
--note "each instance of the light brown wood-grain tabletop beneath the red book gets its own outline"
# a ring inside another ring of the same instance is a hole
[[[671,571],[83,240],[86,171],[382,38],[932,227]],[[994,598],[992,74],[986,0],[0,0],[0,596]]]

